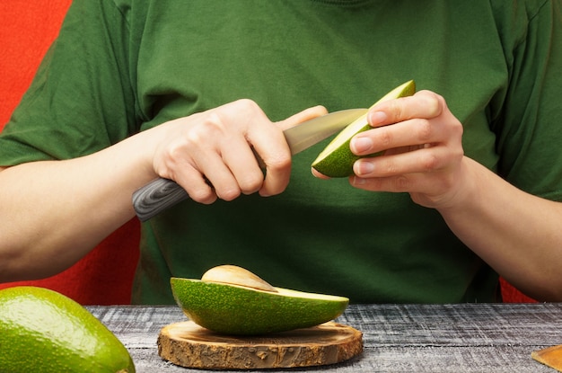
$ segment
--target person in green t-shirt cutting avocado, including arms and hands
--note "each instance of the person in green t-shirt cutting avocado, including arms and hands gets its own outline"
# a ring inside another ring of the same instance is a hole
[[[497,273],[560,299],[560,4],[457,3],[76,0],[0,135],[0,280],[62,271],[164,177],[191,199],[144,224],[135,302],[223,263],[354,302],[493,301]],[[409,79],[348,181],[311,176],[326,142],[291,158],[282,129]]]

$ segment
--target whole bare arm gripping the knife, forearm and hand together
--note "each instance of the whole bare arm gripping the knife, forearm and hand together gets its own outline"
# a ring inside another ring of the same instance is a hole
[[[0,281],[61,271],[134,216],[131,198],[157,176],[192,200],[275,195],[289,182],[282,129],[322,115],[317,106],[273,123],[239,100],[147,129],[98,153],[0,172]],[[266,164],[266,176],[255,150]],[[213,187],[209,185],[210,182]]]

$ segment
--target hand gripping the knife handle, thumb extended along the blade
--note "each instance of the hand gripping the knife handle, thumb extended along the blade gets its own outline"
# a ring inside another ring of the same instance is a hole
[[[206,204],[254,192],[264,197],[281,193],[291,171],[283,130],[325,113],[316,106],[276,123],[257,103],[239,100],[171,120],[150,130],[161,134],[154,147],[154,172]],[[256,155],[265,164],[265,176]]]

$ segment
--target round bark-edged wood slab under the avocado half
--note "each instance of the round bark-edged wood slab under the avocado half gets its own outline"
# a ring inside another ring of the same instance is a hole
[[[273,369],[335,364],[363,351],[363,334],[333,322],[260,336],[211,332],[192,321],[164,326],[158,354],[198,369]]]

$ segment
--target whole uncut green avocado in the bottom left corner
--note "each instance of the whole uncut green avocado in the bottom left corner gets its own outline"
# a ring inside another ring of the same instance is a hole
[[[74,300],[53,290],[0,291],[0,372],[135,373],[127,349]]]

